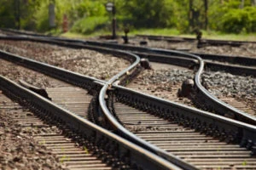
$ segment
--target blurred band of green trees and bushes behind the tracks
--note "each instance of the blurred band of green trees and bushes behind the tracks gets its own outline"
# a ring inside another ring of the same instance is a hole
[[[110,0],[116,7],[117,27],[130,30],[196,29],[229,33],[256,32],[256,0]],[[49,26],[49,4],[55,5],[55,27]],[[67,16],[69,32],[111,31],[108,0],[1,0],[0,27],[61,32]]]

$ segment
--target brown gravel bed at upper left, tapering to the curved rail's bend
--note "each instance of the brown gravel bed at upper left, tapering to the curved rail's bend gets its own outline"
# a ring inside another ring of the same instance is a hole
[[[131,64],[111,54],[102,54],[88,49],[62,48],[40,42],[0,40],[0,48],[9,53],[102,80],[108,80]]]

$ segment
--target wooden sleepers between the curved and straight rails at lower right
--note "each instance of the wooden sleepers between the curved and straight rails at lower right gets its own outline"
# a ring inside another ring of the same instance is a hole
[[[113,103],[113,110],[131,133],[199,169],[256,168],[256,157],[239,144],[227,144],[224,139],[183,127],[175,120],[155,116],[154,112],[137,110],[118,99]]]

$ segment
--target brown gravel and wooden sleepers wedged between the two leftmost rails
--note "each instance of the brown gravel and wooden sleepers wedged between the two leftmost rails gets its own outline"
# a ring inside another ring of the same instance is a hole
[[[20,83],[21,86],[32,89],[32,91],[38,94],[43,94],[44,97],[50,99],[57,105],[61,105],[61,107],[68,111],[72,111],[73,113],[88,119],[89,115],[87,110],[90,106],[91,99],[93,99],[93,95],[90,94],[87,89],[58,81],[52,77],[47,77],[44,74],[38,73],[37,71],[32,71],[20,65],[4,61],[3,59],[0,59],[0,62],[2,65],[5,65],[5,67],[15,67],[18,72],[25,72],[25,75],[15,75],[12,77],[10,74],[15,74],[16,71],[9,71],[9,74],[6,77],[14,79],[14,81]],[[35,80],[34,82],[37,81],[38,87],[24,81],[26,79]],[[44,85],[44,82],[48,82],[48,84]],[[41,88],[42,86],[44,86],[44,88]]]

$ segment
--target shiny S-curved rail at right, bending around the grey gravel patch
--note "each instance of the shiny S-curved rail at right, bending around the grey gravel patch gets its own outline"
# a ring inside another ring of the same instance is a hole
[[[176,59],[182,58],[190,59],[189,61],[186,60],[185,65],[191,66],[192,63],[194,65],[199,65],[199,70],[195,74],[195,84],[197,88],[197,99],[201,100],[201,103],[204,104],[204,107],[208,108],[210,111],[216,111],[216,113],[224,116],[225,114],[232,115],[235,117],[236,120],[241,122],[247,122],[253,125],[256,125],[256,118],[253,116],[248,115],[243,111],[238,111],[236,108],[225,104],[223,101],[217,99],[215,96],[210,94],[206,88],[201,85],[201,73],[205,67],[205,62],[199,56],[194,54],[187,54],[183,52],[177,52],[173,50],[165,50],[165,49],[158,49],[158,48],[137,48],[137,47],[128,47],[124,45],[117,45],[105,42],[87,42],[90,45],[108,47],[108,48],[119,48],[125,49],[129,51],[143,51],[143,53],[148,52],[150,54],[150,58],[152,61],[162,62],[162,63],[172,63],[173,57],[169,56],[177,56]],[[151,55],[152,54],[152,55]],[[156,54],[156,55],[154,55]],[[160,55],[158,55],[160,54]],[[164,56],[162,56],[164,55]],[[154,56],[154,57],[153,57]],[[175,63],[174,63],[175,64]],[[218,65],[218,64],[211,64],[211,65]],[[225,65],[218,67],[224,67]],[[230,70],[235,70],[235,68],[230,68]],[[256,69],[253,69],[253,75],[256,75]]]

